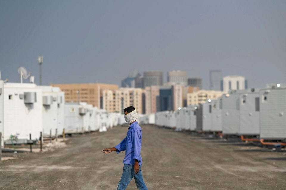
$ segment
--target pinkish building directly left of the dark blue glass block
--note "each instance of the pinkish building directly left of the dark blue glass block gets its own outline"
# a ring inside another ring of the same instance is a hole
[[[145,110],[147,114],[157,111],[157,96],[159,96],[159,86],[145,87]]]

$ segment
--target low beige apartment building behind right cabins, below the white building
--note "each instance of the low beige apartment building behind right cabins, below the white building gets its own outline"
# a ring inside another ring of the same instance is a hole
[[[199,90],[187,94],[187,105],[198,105],[206,103],[208,99],[217,99],[222,96],[222,91]]]

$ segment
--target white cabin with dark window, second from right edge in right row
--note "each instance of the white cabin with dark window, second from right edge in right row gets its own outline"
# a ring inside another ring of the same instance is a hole
[[[259,135],[259,91],[250,88],[238,91],[239,101],[239,134],[248,136]]]

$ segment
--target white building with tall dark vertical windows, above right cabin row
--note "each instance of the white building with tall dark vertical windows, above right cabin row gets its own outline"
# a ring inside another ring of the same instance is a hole
[[[241,90],[247,88],[245,77],[237,75],[227,75],[223,77],[223,92],[227,93],[229,90]]]

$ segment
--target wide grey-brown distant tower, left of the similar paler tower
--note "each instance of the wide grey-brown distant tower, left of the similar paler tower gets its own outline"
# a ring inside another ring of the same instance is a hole
[[[144,87],[163,85],[163,72],[160,72],[160,71],[144,72],[143,83],[144,83]]]

